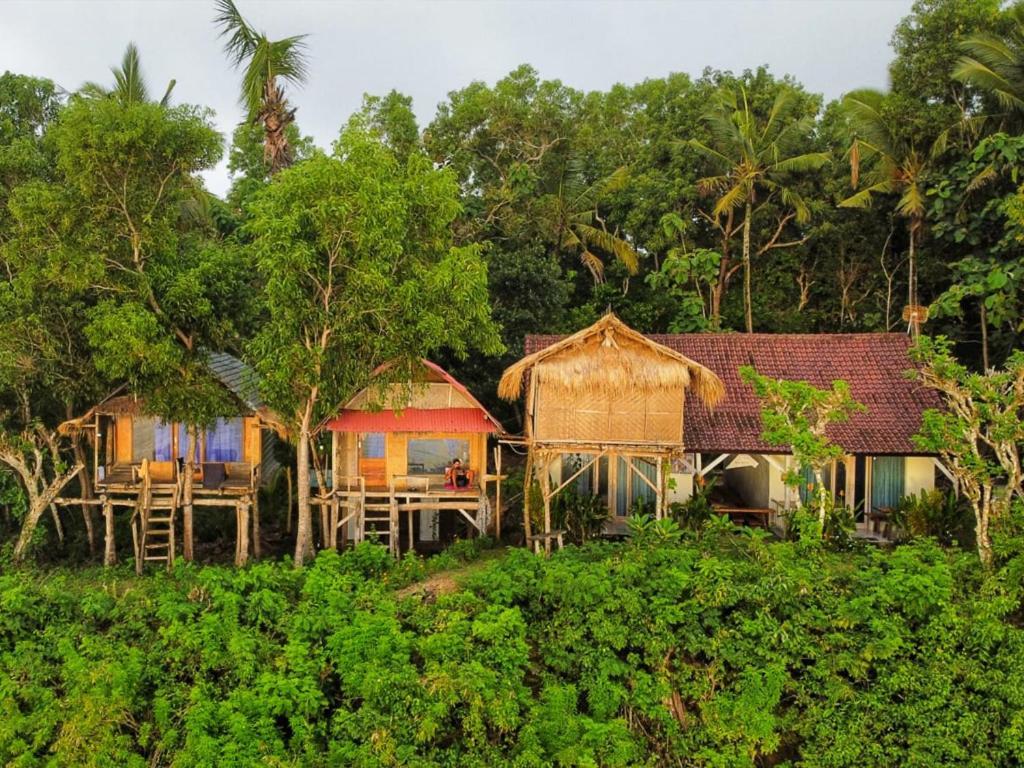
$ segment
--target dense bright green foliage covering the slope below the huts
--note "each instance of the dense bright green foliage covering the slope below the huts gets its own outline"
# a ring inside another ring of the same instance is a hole
[[[983,579],[927,542],[837,555],[726,524],[395,589],[423,570],[364,545],[300,572],[0,577],[0,762],[1024,760],[1020,562]]]

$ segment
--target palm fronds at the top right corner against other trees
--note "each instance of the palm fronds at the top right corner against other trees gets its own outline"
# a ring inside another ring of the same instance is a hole
[[[953,69],[953,77],[991,94],[1002,114],[985,116],[1000,129],[1024,129],[1024,3],[1008,11],[1011,29],[1002,37],[973,35],[961,42],[964,56]]]

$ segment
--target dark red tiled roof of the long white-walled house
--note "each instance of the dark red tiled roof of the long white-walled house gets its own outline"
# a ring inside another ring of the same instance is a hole
[[[527,336],[526,354],[561,336]],[[903,334],[651,334],[650,339],[710,368],[725,383],[725,399],[709,411],[686,399],[683,437],[687,451],[785,453],[761,439],[761,410],[753,389],[739,378],[754,366],[777,379],[828,387],[843,379],[864,413],[834,425],[829,436],[851,454],[921,455],[913,435],[921,415],[939,408],[936,392],[905,376],[913,367]]]

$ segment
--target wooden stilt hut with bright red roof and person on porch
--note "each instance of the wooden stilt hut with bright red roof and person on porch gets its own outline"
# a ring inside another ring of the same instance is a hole
[[[502,425],[440,366],[421,360],[413,381],[371,385],[327,423],[331,480],[321,495],[329,544],[376,536],[391,551],[432,548],[462,524],[484,532],[501,503]],[[445,477],[459,460],[468,479]],[[494,490],[492,504],[488,489]]]

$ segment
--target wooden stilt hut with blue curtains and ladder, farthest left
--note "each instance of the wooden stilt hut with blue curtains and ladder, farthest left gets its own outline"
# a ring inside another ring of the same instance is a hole
[[[92,444],[92,501],[105,517],[108,564],[115,559],[117,508],[131,514],[139,570],[145,562],[173,564],[179,515],[183,555],[190,559],[197,507],[234,508],[236,562],[244,563],[250,549],[259,556],[258,488],[276,466],[271,447],[283,430],[259,401],[252,372],[241,360],[216,353],[210,368],[230,393],[237,413],[199,434],[190,477],[185,476],[186,425],[147,415],[145,403],[125,388],[61,425],[62,431],[87,433]]]

